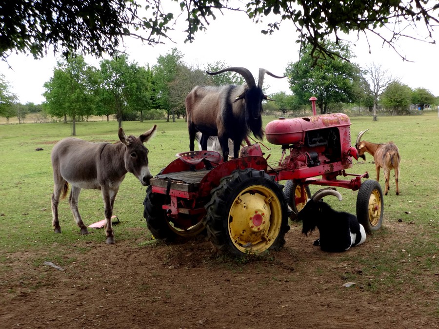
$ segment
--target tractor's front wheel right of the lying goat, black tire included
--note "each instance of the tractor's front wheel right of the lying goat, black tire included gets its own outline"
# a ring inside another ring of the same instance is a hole
[[[367,233],[379,230],[382,225],[384,202],[381,186],[376,180],[365,180],[357,195],[357,218]]]

